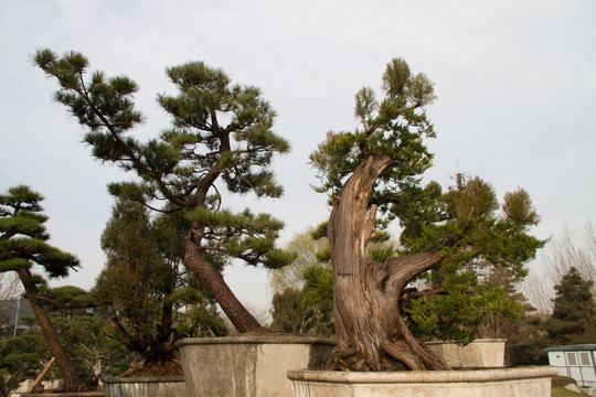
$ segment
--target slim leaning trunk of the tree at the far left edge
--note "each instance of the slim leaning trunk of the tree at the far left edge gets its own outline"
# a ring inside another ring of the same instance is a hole
[[[31,282],[31,272],[29,269],[19,269],[17,271],[19,278],[21,279],[23,287],[25,289],[26,298],[31,303],[33,313],[35,313],[35,319],[40,329],[43,333],[43,337],[47,343],[47,348],[56,360],[56,365],[64,380],[64,390],[65,391],[84,391],[86,389],[85,384],[81,382],[76,371],[73,367],[73,363],[64,352],[64,346],[60,341],[60,337],[50,320],[50,316],[43,309],[42,303],[38,300],[38,288],[34,283]]]

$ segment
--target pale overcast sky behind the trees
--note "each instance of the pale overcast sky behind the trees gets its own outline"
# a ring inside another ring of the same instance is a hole
[[[435,83],[428,108],[437,138],[425,181],[479,175],[498,195],[525,189],[542,217],[540,238],[596,219],[596,2],[593,0],[1,0],[0,191],[41,192],[53,245],[75,254],[77,272],[53,285],[91,289],[105,256],[106,190],[129,180],[94,161],[84,129],[52,100],[55,82],[31,55],[49,47],[85,54],[91,69],[127,75],[147,122],[169,120],[156,96],[173,94],[164,69],[203,61],[255,85],[277,110],[274,130],[292,151],[275,161],[279,200],[231,198],[286,224],[281,242],[328,217],[308,155],[329,130],[352,130],[354,94],[380,92],[394,57]],[[539,260],[530,267],[539,269]],[[242,264],[225,279],[241,301],[267,311],[267,272]]]

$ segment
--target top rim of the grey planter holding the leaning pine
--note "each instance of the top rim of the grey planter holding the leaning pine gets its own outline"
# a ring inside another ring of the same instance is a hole
[[[184,337],[175,343],[178,347],[200,344],[323,344],[334,346],[336,341],[319,336],[220,336],[220,337]]]

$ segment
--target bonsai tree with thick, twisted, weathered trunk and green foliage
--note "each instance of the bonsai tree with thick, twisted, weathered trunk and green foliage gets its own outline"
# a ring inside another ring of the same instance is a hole
[[[332,205],[327,225],[338,342],[332,365],[355,371],[444,369],[443,362],[408,328],[402,303],[416,297],[408,283],[433,270],[435,286],[440,286],[441,276],[449,276],[451,285],[458,281],[455,285],[468,288],[476,276],[462,273],[462,267],[473,267],[483,258],[499,260],[512,275],[521,275],[523,260],[491,255],[494,246],[489,237],[499,237],[494,245],[500,244],[507,228],[525,236],[528,224],[538,219],[518,225],[515,217],[528,215],[522,212],[502,219],[472,219],[481,210],[473,204],[468,213],[449,215],[449,197],[440,186],[421,186],[421,175],[433,159],[425,143],[435,137],[425,112],[436,99],[433,83],[422,73],[413,74],[400,58],[387,64],[382,82],[382,100],[368,87],[355,95],[360,127],[329,132],[310,155],[322,181],[317,190],[327,192]],[[373,253],[370,243],[386,239],[386,225],[396,217],[404,227],[402,244],[407,255]],[[497,233],[499,228],[503,233]],[[447,271],[441,273],[443,268]],[[459,287],[451,291],[473,292]],[[434,293],[445,291],[419,296]]]

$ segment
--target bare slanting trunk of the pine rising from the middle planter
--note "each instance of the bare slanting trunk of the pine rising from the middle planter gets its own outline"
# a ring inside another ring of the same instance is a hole
[[[213,293],[213,297],[240,333],[267,332],[227,287],[222,275],[203,258],[203,248],[200,242],[201,237],[196,236],[196,233],[187,239],[184,266],[199,277],[201,282]]]

